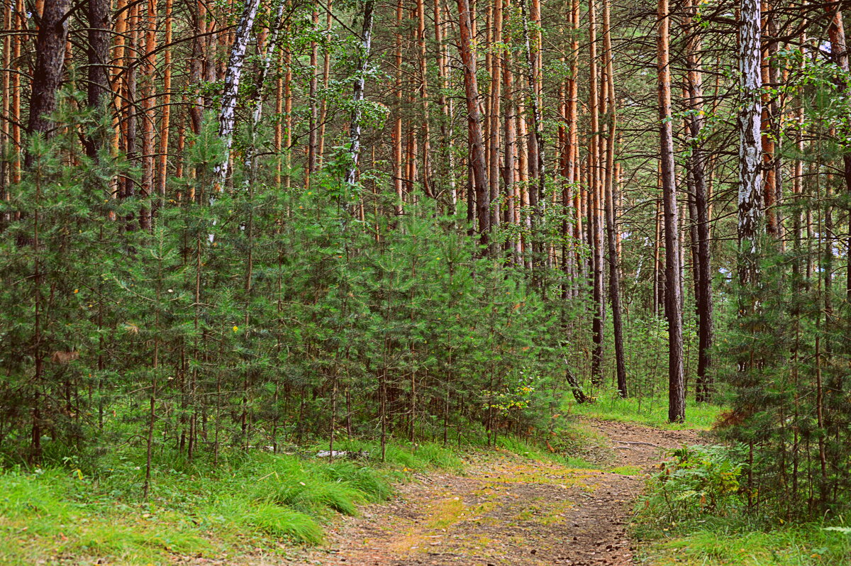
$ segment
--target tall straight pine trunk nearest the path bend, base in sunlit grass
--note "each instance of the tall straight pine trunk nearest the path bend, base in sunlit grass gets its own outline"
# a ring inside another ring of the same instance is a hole
[[[659,72],[660,157],[662,203],[665,209],[665,317],[668,321],[668,420],[685,420],[683,383],[683,289],[679,274],[680,238],[677,186],[674,173],[674,135],[671,119],[669,40],[671,13],[668,0],[659,0],[657,65]]]

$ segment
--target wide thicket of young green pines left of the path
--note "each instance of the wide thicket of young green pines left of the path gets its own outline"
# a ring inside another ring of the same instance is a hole
[[[137,221],[151,199],[111,198],[134,170],[83,156],[66,166],[60,156],[79,153],[71,134],[34,140],[37,166],[0,203],[16,212],[0,232],[4,464],[72,457],[95,471],[116,465],[116,446],[146,455],[150,438],[151,462],[131,458],[141,489],[168,447],[220,464],[231,449],[334,431],[338,442],[403,437],[447,465],[433,443],[548,423],[567,307],[483,258],[434,203],[389,218],[395,196],[341,186],[333,159],[310,190],[237,166],[244,190],[210,199],[213,125],[188,140],[195,174],[168,180],[181,204],[157,208],[151,231]],[[362,198],[363,221],[351,214]],[[420,466],[404,450],[370,453]]]

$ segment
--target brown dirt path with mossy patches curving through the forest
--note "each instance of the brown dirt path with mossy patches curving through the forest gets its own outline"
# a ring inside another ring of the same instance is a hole
[[[354,566],[621,566],[632,563],[626,523],[643,473],[663,449],[697,442],[691,431],[604,421],[615,472],[576,470],[504,456],[472,462],[465,475],[404,485],[329,534],[330,544],[293,564]],[[629,474],[629,475],[626,475]]]

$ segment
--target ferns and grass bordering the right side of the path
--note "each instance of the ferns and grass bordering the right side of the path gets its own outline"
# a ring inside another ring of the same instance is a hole
[[[638,502],[633,534],[646,543],[643,563],[832,566],[851,561],[851,529],[844,517],[794,523],[766,512],[769,506],[753,511],[758,493],[747,489],[745,449],[693,446],[671,456],[650,477]]]

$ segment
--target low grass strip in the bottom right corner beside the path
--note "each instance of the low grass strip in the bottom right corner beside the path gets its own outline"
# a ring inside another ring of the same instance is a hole
[[[654,566],[839,566],[851,563],[851,536],[811,523],[780,529],[730,529],[728,523],[643,549]],[[752,529],[753,527],[750,527]]]

